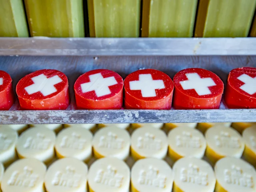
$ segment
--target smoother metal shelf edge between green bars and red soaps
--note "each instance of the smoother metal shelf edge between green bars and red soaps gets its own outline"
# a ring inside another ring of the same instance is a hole
[[[0,56],[256,55],[256,38],[0,38]]]

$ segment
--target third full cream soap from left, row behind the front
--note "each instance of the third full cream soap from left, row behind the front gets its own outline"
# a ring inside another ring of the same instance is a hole
[[[129,133],[117,127],[104,127],[96,132],[92,140],[96,158],[116,157],[124,160],[130,152]]]

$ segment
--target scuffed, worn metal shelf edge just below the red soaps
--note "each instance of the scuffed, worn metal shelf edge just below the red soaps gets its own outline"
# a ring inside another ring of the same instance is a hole
[[[0,111],[0,124],[256,122],[256,109]]]

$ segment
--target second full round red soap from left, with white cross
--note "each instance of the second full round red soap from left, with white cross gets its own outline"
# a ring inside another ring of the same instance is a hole
[[[96,69],[78,77],[74,84],[79,109],[120,109],[124,80],[110,70]]]

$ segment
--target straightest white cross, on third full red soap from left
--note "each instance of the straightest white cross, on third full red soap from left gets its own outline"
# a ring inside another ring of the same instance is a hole
[[[140,74],[138,81],[130,81],[130,90],[141,90],[142,97],[155,97],[156,89],[164,89],[163,80],[153,80],[151,74]]]

